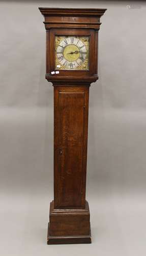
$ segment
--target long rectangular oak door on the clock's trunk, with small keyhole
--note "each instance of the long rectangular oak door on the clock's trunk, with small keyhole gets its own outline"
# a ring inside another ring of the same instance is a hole
[[[59,92],[59,206],[81,206],[84,93]]]

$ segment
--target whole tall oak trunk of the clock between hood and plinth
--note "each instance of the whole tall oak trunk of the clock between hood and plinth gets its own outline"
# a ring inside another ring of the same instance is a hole
[[[55,203],[59,208],[81,208],[85,203],[89,87],[59,87],[55,93]]]

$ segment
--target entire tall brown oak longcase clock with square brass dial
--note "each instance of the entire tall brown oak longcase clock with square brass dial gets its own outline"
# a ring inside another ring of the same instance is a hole
[[[54,200],[48,244],[91,243],[85,200],[89,88],[98,79],[98,31],[106,9],[39,8],[46,79],[54,87]]]

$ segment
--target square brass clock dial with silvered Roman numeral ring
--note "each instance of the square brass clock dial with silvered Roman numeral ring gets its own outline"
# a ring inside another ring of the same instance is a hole
[[[88,70],[89,36],[56,36],[55,69]]]

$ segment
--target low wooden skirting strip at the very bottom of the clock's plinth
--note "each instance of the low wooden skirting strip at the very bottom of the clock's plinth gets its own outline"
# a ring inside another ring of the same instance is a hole
[[[90,234],[86,236],[50,236],[48,223],[47,244],[91,244],[91,230]]]

